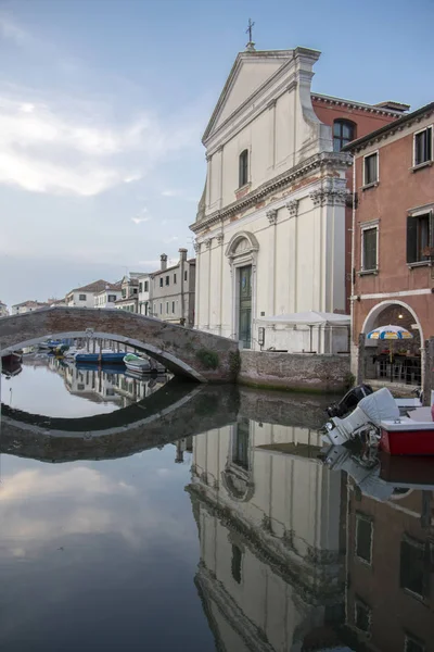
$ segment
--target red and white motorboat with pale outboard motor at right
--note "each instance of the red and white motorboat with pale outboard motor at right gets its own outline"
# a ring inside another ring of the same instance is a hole
[[[333,446],[361,440],[391,455],[434,455],[434,392],[432,406],[417,399],[394,399],[387,388],[365,397],[345,418],[333,416],[324,426]]]

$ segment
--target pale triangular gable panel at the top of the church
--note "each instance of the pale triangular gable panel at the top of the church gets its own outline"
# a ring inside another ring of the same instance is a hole
[[[253,96],[293,55],[293,50],[240,52],[225,84],[203,141]]]

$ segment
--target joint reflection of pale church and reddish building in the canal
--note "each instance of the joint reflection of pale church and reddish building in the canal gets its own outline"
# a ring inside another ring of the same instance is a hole
[[[193,439],[195,582],[217,649],[434,652],[433,492],[363,497],[320,447],[244,418]]]

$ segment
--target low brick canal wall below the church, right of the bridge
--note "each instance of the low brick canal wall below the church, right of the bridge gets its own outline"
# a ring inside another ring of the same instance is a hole
[[[352,385],[349,355],[240,351],[238,381],[252,387],[339,392]]]

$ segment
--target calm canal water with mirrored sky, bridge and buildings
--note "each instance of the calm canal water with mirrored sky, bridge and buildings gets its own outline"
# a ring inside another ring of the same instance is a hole
[[[35,355],[1,396],[2,652],[434,651],[434,475],[330,468],[327,400]]]

